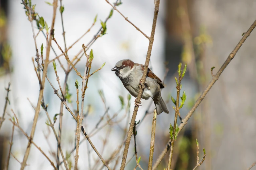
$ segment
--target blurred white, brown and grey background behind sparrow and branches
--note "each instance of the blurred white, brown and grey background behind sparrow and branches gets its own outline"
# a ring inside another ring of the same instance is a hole
[[[32,0],[32,4],[36,4],[35,11],[43,16],[44,21],[50,26],[52,7],[41,0]],[[97,22],[94,27],[68,51],[69,58],[73,58],[82,49],[81,45],[87,44],[97,33],[101,27],[99,20],[105,21],[109,16],[111,6],[104,0],[62,0],[62,5],[64,6],[63,25],[67,47],[90,28],[97,14]],[[59,1],[58,6],[60,6]],[[146,35],[150,35],[154,14],[153,0],[122,0],[118,9]],[[181,90],[181,92],[185,90],[187,94],[185,107],[180,110],[181,117],[184,118],[212,79],[211,67],[216,67],[213,70],[213,73],[216,73],[242,38],[241,35],[256,19],[255,9],[256,1],[254,0],[161,0],[149,67],[159,78],[164,79],[165,88],[162,89],[162,97],[167,103],[170,114],[162,113],[157,117],[153,164],[169,140],[169,124],[173,124],[174,121],[173,103],[170,97],[176,97],[174,77],[177,77],[176,70],[179,62],[182,62],[183,65],[188,64],[188,72],[182,80]],[[35,22],[34,29],[37,33]],[[56,15],[55,37],[64,49],[59,11]],[[45,47],[45,37],[39,33],[37,37],[39,49],[42,43]],[[199,141],[199,160],[203,156],[203,148],[207,154],[205,162],[198,169],[241,170],[247,169],[255,162],[255,43],[256,33],[254,30],[196,109],[189,123],[181,131],[174,149],[172,169],[194,168],[196,165],[196,138]],[[52,47],[57,55],[61,54],[54,42]],[[122,144],[134,108],[134,97],[131,97],[128,102],[128,92],[111,68],[123,59],[144,64],[148,40],[114,11],[112,17],[107,21],[107,34],[99,37],[91,48],[94,52],[92,70],[96,70],[104,62],[106,65],[88,81],[89,88],[85,94],[84,107],[86,117],[82,125],[88,134],[92,132],[91,140],[103,158],[109,159],[110,154]],[[5,88],[10,82],[10,105],[7,108],[7,113],[12,114],[11,109],[13,109],[17,114],[20,126],[27,134],[30,134],[35,113],[28,99],[36,106],[39,95],[39,83],[31,62],[32,57],[35,58],[35,45],[31,25],[27,20],[21,1],[1,0],[0,111],[4,108],[7,93]],[[51,50],[50,59],[54,57],[55,54]],[[64,56],[60,57],[60,61],[64,67],[67,67]],[[59,64],[57,61],[56,63]],[[81,73],[84,71],[85,63],[86,59],[83,57],[77,64],[77,69]],[[47,76],[54,87],[59,89],[51,65],[48,67]],[[60,83],[63,85],[65,73],[60,64],[57,65],[57,71]],[[74,86],[76,79],[81,85],[82,81],[72,70],[67,80],[68,93],[71,95],[68,106],[72,110],[76,109],[76,87]],[[124,99],[123,105],[119,96]],[[48,81],[45,81],[44,100],[49,104],[48,112],[53,119],[54,115],[60,112],[61,101],[53,93]],[[142,100],[142,107],[139,107],[136,118],[136,121],[141,120],[137,127],[136,144],[143,169],[146,169],[148,165],[154,107],[151,99]],[[96,123],[103,115],[104,119],[99,126],[102,128],[95,130]],[[112,117],[114,118],[110,121]],[[3,169],[6,162],[12,127],[8,120],[9,116],[6,115],[5,118],[0,131],[0,169]],[[56,163],[54,154],[57,152],[57,141],[45,122],[47,122],[47,117],[41,109],[33,141]],[[59,119],[57,117],[56,130],[58,126]],[[96,132],[95,135],[94,132]],[[61,139],[64,155],[74,149],[75,133],[76,122],[64,109]],[[81,135],[81,140],[83,139],[84,136]],[[18,128],[15,128],[11,152],[19,161],[23,160],[26,144],[26,137]],[[111,167],[114,167],[117,162],[118,169],[122,153],[123,147],[109,163]],[[127,161],[131,159],[131,161],[126,166],[128,170],[133,169],[136,165],[133,155],[134,139],[132,137],[127,159]],[[74,166],[74,156],[75,152],[69,158],[72,166]],[[168,158],[169,152],[158,169],[162,170],[167,167]],[[27,164],[29,166],[26,166],[26,170],[52,169],[50,163],[34,146],[30,150]],[[9,169],[19,168],[20,164],[11,157]],[[78,168],[106,169],[99,162],[97,155],[86,140],[79,147]],[[60,169],[64,169],[63,164]],[[254,167],[254,169],[256,168]]]

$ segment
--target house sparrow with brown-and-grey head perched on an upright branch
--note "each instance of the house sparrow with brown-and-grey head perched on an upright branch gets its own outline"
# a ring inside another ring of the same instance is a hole
[[[139,93],[140,79],[142,78],[144,70],[143,64],[137,64],[131,60],[121,60],[115,64],[111,71],[115,74],[125,88],[130,92],[133,97],[137,97]],[[161,90],[164,88],[162,81],[158,78],[149,68],[147,69],[147,76],[145,80],[145,89],[142,93],[142,98],[147,100],[151,97],[155,103],[157,114],[162,112],[169,113],[162,97]],[[136,104],[136,102],[135,102]],[[138,104],[137,104],[138,105]]]

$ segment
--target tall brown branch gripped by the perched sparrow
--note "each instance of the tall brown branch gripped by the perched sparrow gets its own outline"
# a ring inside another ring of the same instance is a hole
[[[148,50],[147,50],[145,67],[144,67],[144,71],[143,71],[143,76],[141,78],[141,85],[140,85],[139,93],[138,93],[137,98],[135,99],[135,102],[137,102],[137,103],[140,103],[142,92],[143,92],[143,89],[145,87],[144,84],[145,84],[145,80],[146,80],[148,64],[149,64],[151,51],[152,51],[152,47],[153,47],[153,42],[154,42],[156,22],[157,22],[157,16],[158,16],[158,11],[159,11],[159,4],[160,4],[160,0],[156,0],[156,2],[155,2],[155,11],[154,11],[154,19],[153,19],[153,24],[152,24],[151,36],[149,38],[149,45],[148,45]],[[126,163],[126,159],[127,159],[129,145],[130,145],[132,130],[133,130],[133,127],[134,127],[134,123],[135,123],[135,119],[136,119],[136,116],[137,116],[138,109],[139,109],[139,106],[135,105],[134,110],[133,110],[133,114],[132,114],[132,118],[131,118],[131,123],[130,123],[129,130],[128,130],[127,139],[126,139],[126,142],[125,142],[125,149],[124,149],[124,153],[123,153],[123,157],[122,157],[122,163],[121,163],[120,170],[125,169],[125,163]]]

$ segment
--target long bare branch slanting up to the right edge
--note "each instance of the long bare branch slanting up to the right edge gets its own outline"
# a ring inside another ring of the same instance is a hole
[[[196,108],[199,106],[199,104],[202,102],[202,100],[205,98],[206,94],[210,91],[210,89],[213,87],[214,83],[218,80],[218,78],[220,77],[220,75],[222,74],[222,72],[224,71],[224,69],[228,66],[228,64],[231,62],[231,60],[235,57],[237,51],[241,48],[241,46],[244,44],[245,40],[247,39],[247,37],[250,35],[250,33],[253,31],[253,29],[256,26],[256,20],[252,23],[252,25],[250,26],[250,28],[248,29],[248,31],[243,35],[242,39],[239,41],[239,43],[236,45],[236,47],[234,48],[234,50],[230,53],[230,55],[228,56],[227,60],[224,62],[224,64],[220,67],[219,71],[213,76],[213,79],[211,80],[211,82],[208,84],[208,86],[206,87],[206,89],[202,92],[202,94],[200,95],[200,97],[196,100],[196,103],[194,104],[194,106],[191,108],[191,110],[188,112],[188,114],[186,115],[186,117],[184,119],[182,119],[182,123],[180,123],[179,125],[179,132],[183,129],[183,127],[187,124],[189,118],[192,116],[192,114],[194,113],[194,111],[196,110]],[[178,134],[179,134],[178,132]],[[170,149],[170,140],[168,141],[166,147],[163,149],[162,153],[159,155],[153,169],[155,170],[158,165],[161,163],[163,157],[165,156],[165,154],[167,153],[167,151]]]

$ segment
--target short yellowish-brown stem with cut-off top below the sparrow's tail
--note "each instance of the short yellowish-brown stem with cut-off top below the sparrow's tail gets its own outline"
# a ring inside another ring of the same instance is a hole
[[[153,154],[154,154],[154,147],[155,147],[155,133],[156,133],[156,109],[154,110],[154,116],[152,121],[152,130],[151,130],[151,142],[150,142],[150,151],[149,151],[149,161],[148,161],[148,170],[152,169],[153,163]]]

